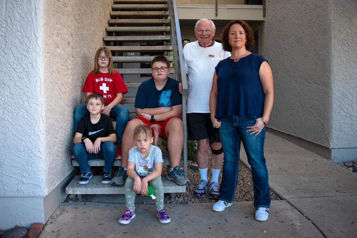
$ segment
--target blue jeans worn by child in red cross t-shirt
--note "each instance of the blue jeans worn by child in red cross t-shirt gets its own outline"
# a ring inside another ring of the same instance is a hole
[[[107,106],[108,104],[106,103],[104,105]],[[79,121],[82,119],[82,117],[88,114],[89,111],[87,109],[87,103],[79,104],[74,108],[73,121],[74,121],[75,132],[77,131]],[[121,147],[121,140],[123,137],[123,133],[126,124],[128,123],[129,110],[124,105],[119,103],[112,108],[112,110],[110,111],[110,116],[116,118],[116,126],[115,126],[116,143],[115,144]]]

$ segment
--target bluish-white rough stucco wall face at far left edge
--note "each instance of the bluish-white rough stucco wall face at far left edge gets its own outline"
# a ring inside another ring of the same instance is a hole
[[[0,7],[0,196],[44,196],[40,0],[1,1]]]

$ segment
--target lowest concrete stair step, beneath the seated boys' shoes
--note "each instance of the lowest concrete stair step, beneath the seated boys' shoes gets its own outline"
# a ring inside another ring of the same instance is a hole
[[[93,176],[87,184],[79,184],[80,176],[77,175],[66,187],[67,194],[124,194],[124,186],[116,187],[109,184],[102,184],[102,176]],[[177,185],[174,182],[166,179],[166,174],[161,175],[162,184],[164,185],[164,193],[184,193],[186,186]],[[80,196],[79,196],[80,197]]]

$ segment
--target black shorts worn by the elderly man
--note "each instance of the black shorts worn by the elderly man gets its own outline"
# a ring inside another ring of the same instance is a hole
[[[197,141],[209,139],[213,142],[221,142],[220,132],[212,126],[210,113],[187,113],[188,140]]]

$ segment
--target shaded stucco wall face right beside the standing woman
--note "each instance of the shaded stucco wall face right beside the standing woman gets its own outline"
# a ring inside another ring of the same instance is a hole
[[[331,5],[266,0],[260,29],[261,54],[274,76],[269,127],[325,147],[332,119]]]

